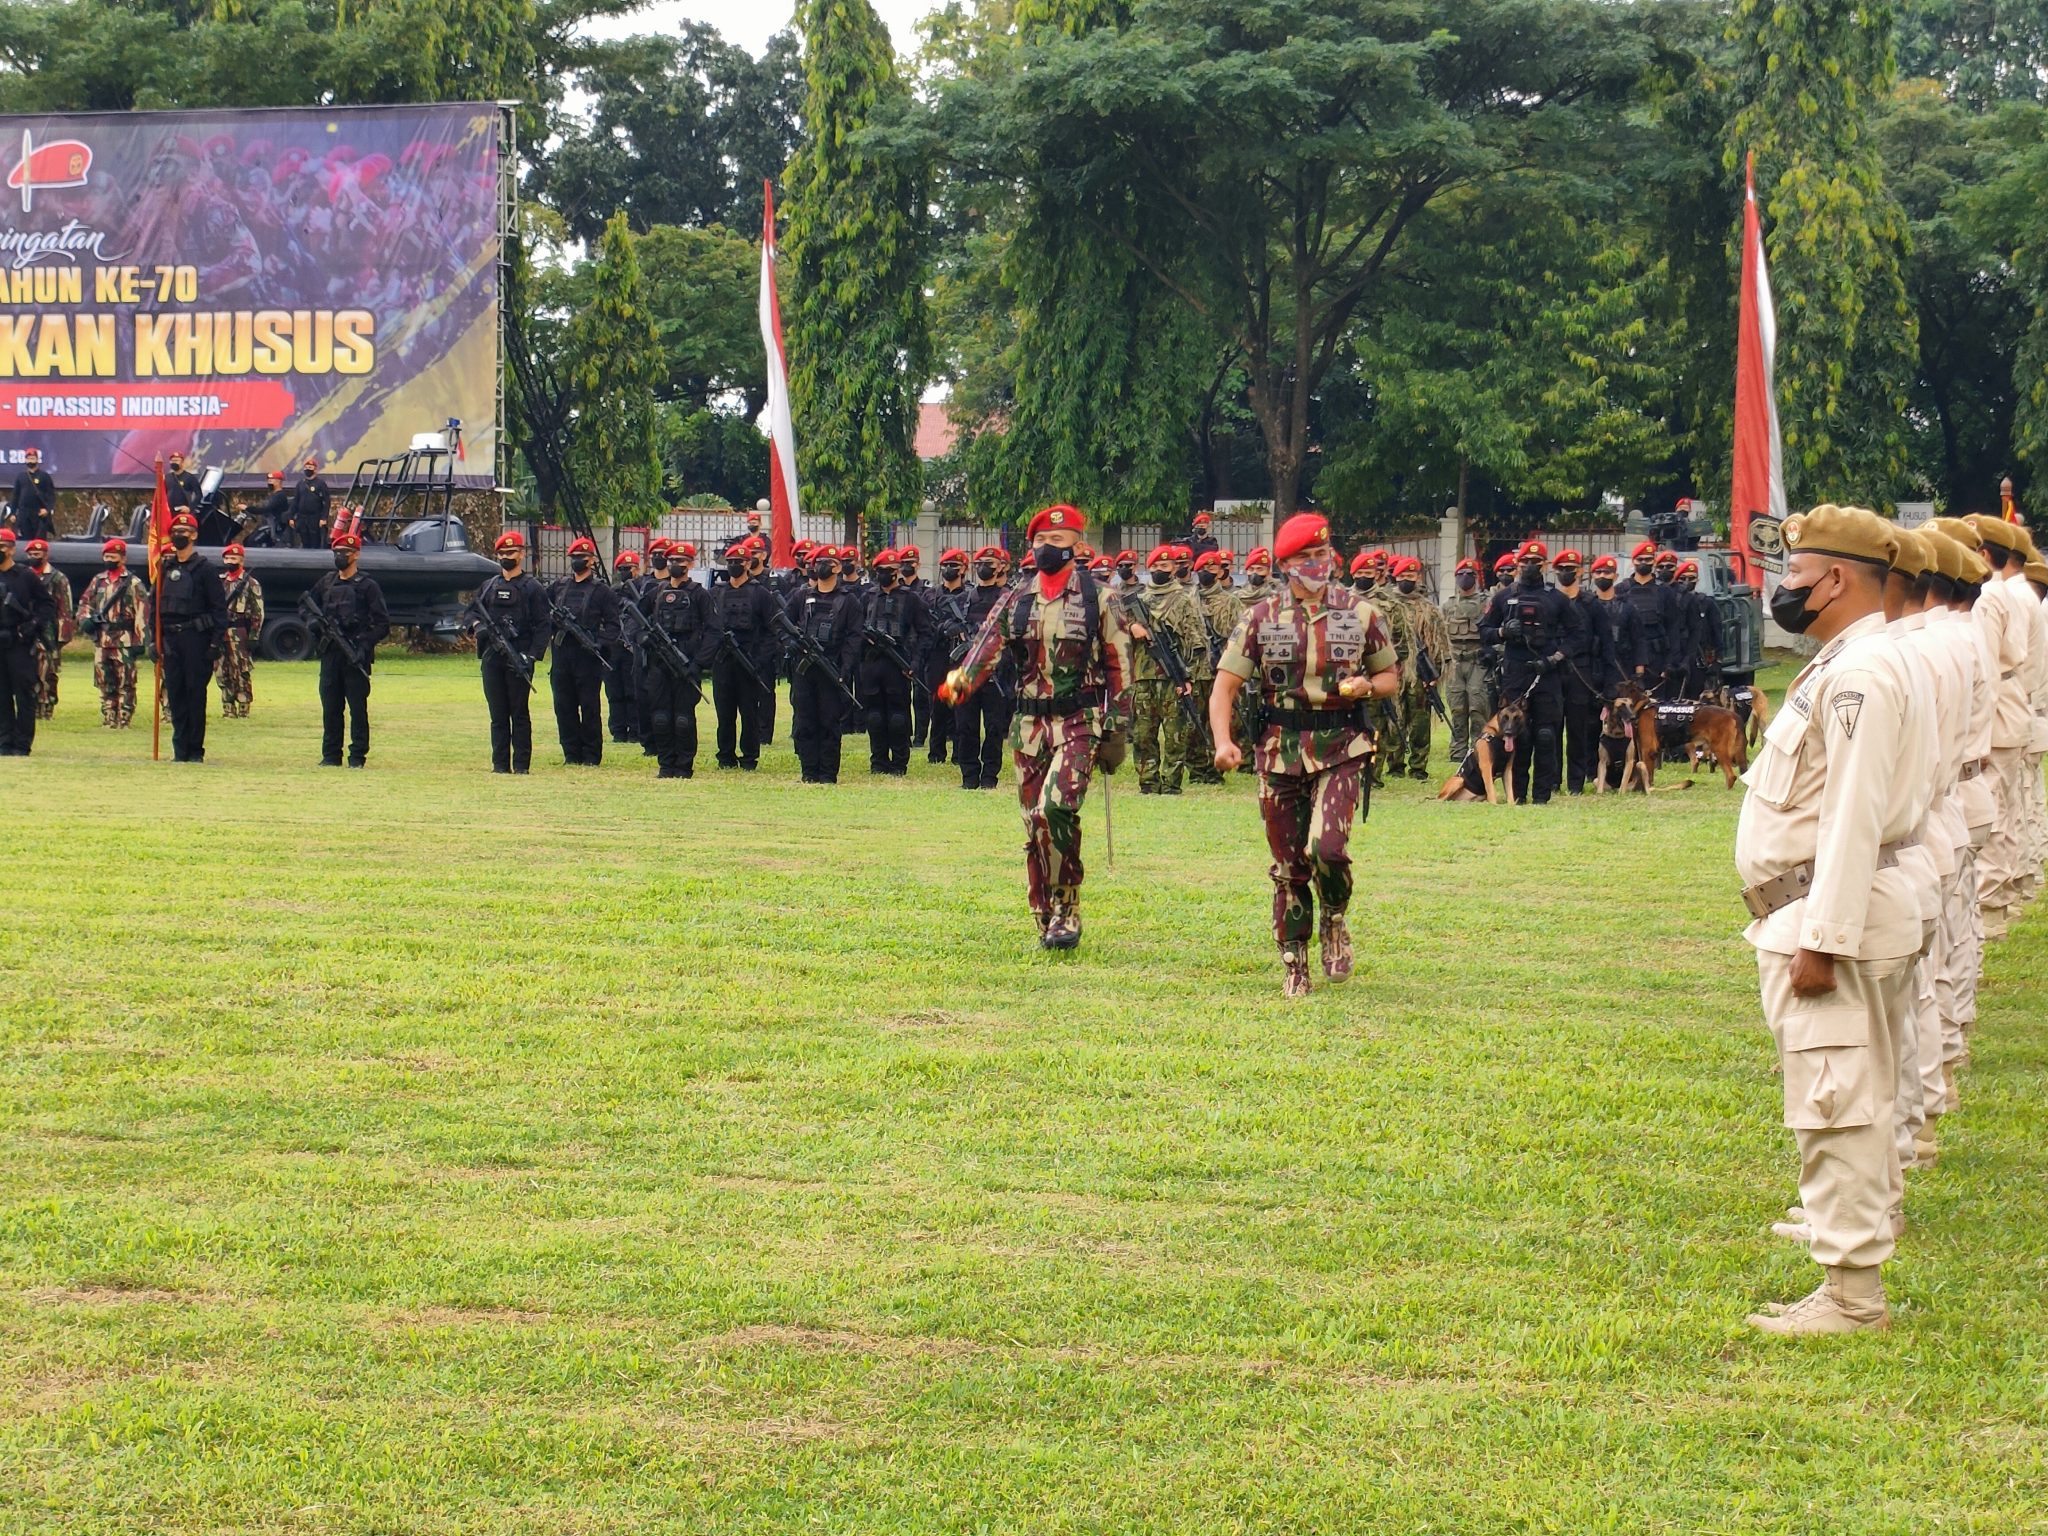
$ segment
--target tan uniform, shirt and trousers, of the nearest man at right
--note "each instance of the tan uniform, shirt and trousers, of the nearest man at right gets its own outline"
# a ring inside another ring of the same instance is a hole
[[[1911,676],[1884,614],[1858,621],[1800,672],[1743,774],[1743,885],[1810,868],[1804,895],[1753,920],[1743,938],[1757,950],[1763,1018],[1784,1067],[1812,1257],[1829,1268],[1878,1266],[1894,1247],[1892,1042],[1925,942],[1921,893],[1898,846],[1919,827],[1933,776],[1933,721]],[[1800,948],[1835,956],[1833,991],[1792,991]]]

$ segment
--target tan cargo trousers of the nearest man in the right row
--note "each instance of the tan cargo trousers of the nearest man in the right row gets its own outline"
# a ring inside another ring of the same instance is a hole
[[[1890,1212],[1905,1202],[1892,1112],[1901,1016],[1915,1008],[1915,956],[1835,961],[1835,991],[1798,997],[1792,956],[1757,950],[1763,1020],[1784,1067],[1786,1124],[1798,1143],[1798,1194],[1812,1262],[1870,1268],[1892,1255]]]

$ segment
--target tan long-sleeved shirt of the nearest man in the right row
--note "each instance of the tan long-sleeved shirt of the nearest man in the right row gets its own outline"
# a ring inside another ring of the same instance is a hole
[[[1933,774],[1933,721],[1911,668],[1868,614],[1800,672],[1743,774],[1735,829],[1743,885],[1810,862],[1806,895],[1743,932],[1755,948],[1882,961],[1921,950],[1921,895],[1909,866],[1878,868],[1909,838]]]

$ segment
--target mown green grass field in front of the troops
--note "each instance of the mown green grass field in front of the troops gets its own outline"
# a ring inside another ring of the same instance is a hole
[[[485,772],[475,664],[0,762],[0,1530],[2048,1528],[2044,924],[1888,1337],[1810,1288],[1718,780],[1382,795],[1278,995],[1247,780],[1040,954],[950,768]],[[545,696],[545,694],[543,694]],[[166,739],[168,754],[168,739]]]

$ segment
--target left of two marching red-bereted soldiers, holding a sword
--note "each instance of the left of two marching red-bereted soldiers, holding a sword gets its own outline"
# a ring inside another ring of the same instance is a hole
[[[944,702],[958,705],[1016,655],[1010,762],[1024,809],[1024,889],[1038,944],[1081,942],[1081,801],[1100,764],[1116,772],[1130,725],[1130,649],[1118,606],[1075,569],[1081,514],[1049,506],[1030,520],[1038,573],[1014,588],[946,674]]]

